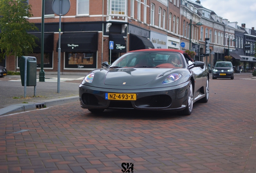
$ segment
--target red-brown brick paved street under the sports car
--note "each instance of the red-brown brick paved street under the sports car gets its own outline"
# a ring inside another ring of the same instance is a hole
[[[210,80],[190,116],[78,102],[0,117],[0,173],[256,173],[256,80]]]

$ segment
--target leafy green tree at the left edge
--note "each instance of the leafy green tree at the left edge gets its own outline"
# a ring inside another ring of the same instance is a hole
[[[31,5],[26,0],[0,0],[0,48],[3,57],[14,55],[15,72],[17,56],[33,52],[38,39],[27,31],[38,30],[34,23],[26,20],[32,17]]]

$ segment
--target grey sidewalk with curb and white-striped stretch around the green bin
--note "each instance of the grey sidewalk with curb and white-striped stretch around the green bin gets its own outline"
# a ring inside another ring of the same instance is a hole
[[[39,82],[38,74],[36,97],[33,97],[34,87],[27,87],[26,98],[19,75],[0,78],[0,116],[79,101],[78,87],[84,77],[60,75],[60,93],[57,93],[58,75],[45,74],[45,82]]]

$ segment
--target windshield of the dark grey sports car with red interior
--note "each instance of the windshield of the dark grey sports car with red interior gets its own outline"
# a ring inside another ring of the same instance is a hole
[[[118,58],[110,68],[184,68],[179,52],[130,52]]]

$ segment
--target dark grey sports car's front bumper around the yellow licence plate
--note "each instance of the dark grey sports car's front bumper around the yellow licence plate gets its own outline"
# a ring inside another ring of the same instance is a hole
[[[84,109],[181,111],[187,106],[188,87],[189,82],[154,89],[103,89],[80,84],[79,99]],[[136,101],[107,100],[105,93],[135,93],[137,99]]]

